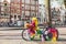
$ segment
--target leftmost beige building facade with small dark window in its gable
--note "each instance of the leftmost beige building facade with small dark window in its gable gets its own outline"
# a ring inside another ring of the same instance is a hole
[[[6,23],[10,21],[10,8],[7,0],[1,0],[0,2],[0,23]]]

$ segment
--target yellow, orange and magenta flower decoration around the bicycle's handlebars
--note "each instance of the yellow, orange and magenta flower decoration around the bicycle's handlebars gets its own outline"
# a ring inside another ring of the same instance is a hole
[[[32,22],[31,23],[26,23],[25,28],[28,28],[31,40],[34,38],[35,34],[37,33],[38,36],[42,34],[41,30],[37,26],[37,19],[36,18],[32,18]]]

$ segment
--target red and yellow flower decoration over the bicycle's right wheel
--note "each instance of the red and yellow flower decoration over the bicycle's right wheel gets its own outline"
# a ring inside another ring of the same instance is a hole
[[[54,42],[57,41],[58,33],[55,28],[48,28],[48,30],[46,30],[46,31],[48,32],[45,36],[46,41],[54,41]]]

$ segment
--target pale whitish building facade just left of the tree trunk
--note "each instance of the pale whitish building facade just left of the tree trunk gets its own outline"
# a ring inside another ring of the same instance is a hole
[[[38,18],[40,18],[40,23],[45,23],[47,22],[47,9],[45,6],[44,0],[38,0]]]

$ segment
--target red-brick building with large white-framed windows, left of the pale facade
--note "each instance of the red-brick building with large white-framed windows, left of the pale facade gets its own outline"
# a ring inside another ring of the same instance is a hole
[[[38,13],[38,0],[11,0],[10,13],[14,19],[36,15]]]

